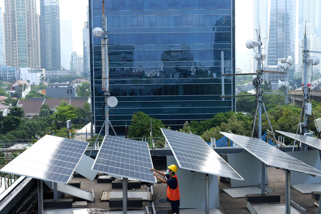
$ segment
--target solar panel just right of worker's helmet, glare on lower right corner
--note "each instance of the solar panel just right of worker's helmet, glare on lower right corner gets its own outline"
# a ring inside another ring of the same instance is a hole
[[[200,136],[160,129],[180,168],[244,180]]]

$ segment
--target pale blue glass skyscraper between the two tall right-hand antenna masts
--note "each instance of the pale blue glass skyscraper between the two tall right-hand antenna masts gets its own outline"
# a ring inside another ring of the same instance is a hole
[[[276,59],[292,56],[293,64],[289,67],[291,86],[295,80],[295,19],[295,0],[271,0],[267,65],[276,65]]]

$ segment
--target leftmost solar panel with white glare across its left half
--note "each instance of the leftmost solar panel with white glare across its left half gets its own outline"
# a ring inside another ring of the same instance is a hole
[[[68,183],[89,142],[45,135],[0,171]]]

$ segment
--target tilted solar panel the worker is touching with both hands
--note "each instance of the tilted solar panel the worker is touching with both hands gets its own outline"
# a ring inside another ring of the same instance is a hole
[[[156,183],[151,168],[152,157],[146,142],[114,136],[105,136],[91,167],[111,176]]]

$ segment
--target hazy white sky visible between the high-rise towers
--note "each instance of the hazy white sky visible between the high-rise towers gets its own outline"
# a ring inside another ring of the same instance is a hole
[[[98,0],[97,0],[98,1]],[[88,0],[60,0],[60,19],[72,20],[73,51],[83,53],[82,28],[86,21]],[[0,0],[0,7],[4,12],[4,0]],[[37,0],[37,13],[40,13]],[[245,47],[247,39],[253,39],[253,0],[235,1],[235,43],[236,67],[244,67],[253,50]]]

